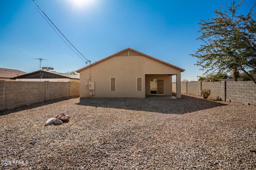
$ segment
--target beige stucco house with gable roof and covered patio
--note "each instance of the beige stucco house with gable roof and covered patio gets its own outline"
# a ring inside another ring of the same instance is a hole
[[[80,98],[145,98],[172,95],[176,75],[176,97],[181,98],[181,72],[184,69],[131,48],[77,70]]]

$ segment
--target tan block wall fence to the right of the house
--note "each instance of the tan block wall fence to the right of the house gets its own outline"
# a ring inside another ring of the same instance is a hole
[[[175,91],[176,85],[172,84]],[[256,106],[256,84],[253,81],[237,82],[181,82],[181,92],[192,96],[202,96],[201,90],[208,88],[211,95],[208,98],[220,97],[223,101]]]

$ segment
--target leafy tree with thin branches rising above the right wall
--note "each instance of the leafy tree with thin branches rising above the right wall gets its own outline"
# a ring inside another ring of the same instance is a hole
[[[247,15],[237,14],[243,3],[235,5],[234,1],[230,6],[221,5],[219,11],[214,12],[216,18],[201,20],[198,32],[202,35],[198,39],[204,44],[190,55],[198,58],[195,65],[202,66],[205,73],[241,70],[256,84],[247,71],[256,69],[256,13],[252,14],[256,4]]]

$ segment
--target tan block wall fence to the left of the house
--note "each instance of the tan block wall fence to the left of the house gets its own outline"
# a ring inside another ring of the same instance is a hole
[[[0,80],[0,110],[68,97],[79,97],[79,82]]]

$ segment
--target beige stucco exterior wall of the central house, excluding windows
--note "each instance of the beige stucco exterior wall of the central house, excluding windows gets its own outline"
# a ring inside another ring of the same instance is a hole
[[[180,70],[137,53],[120,54],[80,71],[80,97],[145,98],[146,74],[180,74]],[[116,77],[116,92],[110,92],[110,77]],[[142,92],[136,92],[136,77],[142,77]],[[172,77],[165,83],[169,80],[166,94],[172,93]],[[90,81],[95,82],[95,90],[86,86]],[[89,96],[90,93],[95,95]]]

